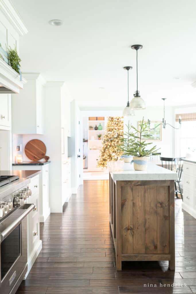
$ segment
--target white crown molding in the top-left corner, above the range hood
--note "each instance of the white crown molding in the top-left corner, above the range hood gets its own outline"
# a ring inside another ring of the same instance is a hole
[[[9,0],[0,0],[0,9],[9,22],[12,24],[14,29],[21,35],[24,36],[28,33],[28,28],[22,20],[20,14]]]

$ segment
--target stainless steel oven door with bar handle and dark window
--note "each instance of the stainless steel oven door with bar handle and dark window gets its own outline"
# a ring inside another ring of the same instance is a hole
[[[26,206],[29,209],[21,207],[0,223],[0,293],[10,293],[27,271],[26,215],[34,205]]]

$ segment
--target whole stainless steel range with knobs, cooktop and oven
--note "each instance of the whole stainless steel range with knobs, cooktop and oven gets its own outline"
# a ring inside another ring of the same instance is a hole
[[[26,203],[30,179],[0,176],[0,293],[14,294],[27,272]]]

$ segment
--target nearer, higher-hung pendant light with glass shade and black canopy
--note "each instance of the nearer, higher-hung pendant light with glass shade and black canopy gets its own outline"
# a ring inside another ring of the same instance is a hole
[[[135,49],[137,52],[136,55],[136,63],[137,63],[137,71],[136,71],[136,75],[137,75],[137,90],[135,91],[135,94],[133,94],[134,98],[131,100],[130,102],[130,108],[134,109],[134,110],[142,110],[145,109],[145,102],[144,100],[140,97],[140,91],[138,91],[138,50],[142,49],[143,46],[142,45],[132,45],[131,46],[132,49]]]

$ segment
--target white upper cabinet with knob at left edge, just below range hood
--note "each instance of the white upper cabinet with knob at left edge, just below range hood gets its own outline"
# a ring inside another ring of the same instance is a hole
[[[0,94],[0,129],[11,129],[11,94]]]

